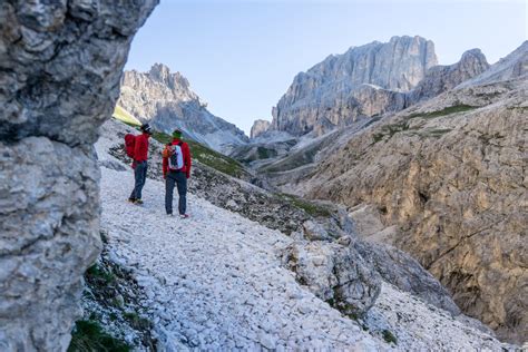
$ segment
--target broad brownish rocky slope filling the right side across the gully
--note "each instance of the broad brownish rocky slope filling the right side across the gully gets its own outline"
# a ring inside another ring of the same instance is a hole
[[[296,189],[351,212],[373,208],[378,219],[363,226],[371,229],[366,241],[410,253],[463,312],[522,343],[528,81],[514,74],[526,56],[512,56],[499,62],[508,80],[491,82],[485,71],[473,81],[486,85],[457,88],[381,119],[322,159]]]

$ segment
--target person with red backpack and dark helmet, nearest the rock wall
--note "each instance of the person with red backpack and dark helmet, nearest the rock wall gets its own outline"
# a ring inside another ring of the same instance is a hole
[[[141,190],[147,179],[147,159],[148,159],[148,138],[153,134],[153,129],[148,124],[140,127],[143,134],[136,136],[134,141],[134,189],[128,202],[134,204],[143,204]]]

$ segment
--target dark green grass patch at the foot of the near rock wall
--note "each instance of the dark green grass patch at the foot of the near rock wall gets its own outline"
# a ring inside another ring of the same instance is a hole
[[[130,346],[118,340],[92,320],[80,320],[76,322],[71,333],[70,345],[68,352],[92,352],[92,351],[113,351],[128,352]]]

